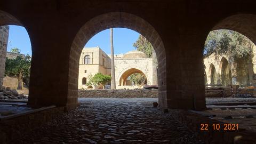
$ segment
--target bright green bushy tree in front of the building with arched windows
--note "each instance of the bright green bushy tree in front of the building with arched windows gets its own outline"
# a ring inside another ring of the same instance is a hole
[[[86,85],[99,85],[102,84],[103,86],[106,85],[107,82],[111,81],[111,76],[103,75],[101,73],[97,73],[94,76],[89,75],[89,82]]]

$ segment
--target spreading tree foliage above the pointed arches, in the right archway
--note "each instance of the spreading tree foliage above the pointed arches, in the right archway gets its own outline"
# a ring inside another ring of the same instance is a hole
[[[233,30],[213,30],[206,38],[204,53],[217,55],[228,53],[234,60],[252,55],[253,43],[249,38]]]

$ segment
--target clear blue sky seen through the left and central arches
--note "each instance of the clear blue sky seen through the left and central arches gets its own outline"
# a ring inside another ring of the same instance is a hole
[[[107,54],[110,54],[110,30],[106,29],[94,35],[85,47],[99,46]],[[126,28],[114,28],[114,53],[126,53],[135,50],[132,44],[138,39],[139,33]],[[31,43],[24,27],[10,26],[7,51],[18,47],[21,53],[31,55]]]

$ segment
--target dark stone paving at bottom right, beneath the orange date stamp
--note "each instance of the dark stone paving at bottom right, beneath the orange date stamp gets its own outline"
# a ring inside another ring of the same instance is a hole
[[[187,125],[190,130],[198,135],[205,143],[236,143],[236,144],[254,144],[256,141],[256,132],[244,129],[239,125],[238,130],[224,130],[225,123],[212,117],[198,114],[194,110],[169,109],[169,113],[174,119]],[[242,122],[243,123],[243,122]],[[202,124],[207,124],[207,130],[202,129]],[[213,124],[219,124],[220,129],[214,130]]]

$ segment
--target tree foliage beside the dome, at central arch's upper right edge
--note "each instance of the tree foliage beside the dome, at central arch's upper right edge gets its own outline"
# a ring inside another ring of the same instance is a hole
[[[133,46],[136,48],[136,50],[145,53],[148,58],[152,58],[153,46],[147,40],[147,38],[140,35],[137,41],[133,43]]]

